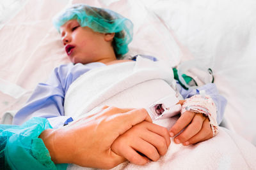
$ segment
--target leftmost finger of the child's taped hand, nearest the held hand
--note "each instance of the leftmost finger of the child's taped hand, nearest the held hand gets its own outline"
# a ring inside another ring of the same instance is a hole
[[[185,111],[184,114],[180,116],[177,122],[170,129],[170,136],[173,137],[178,134],[182,129],[184,129],[195,117],[195,113],[192,111]]]

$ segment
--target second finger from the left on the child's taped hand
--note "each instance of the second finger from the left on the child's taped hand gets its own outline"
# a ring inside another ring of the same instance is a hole
[[[174,139],[175,143],[184,143],[188,141],[188,139],[195,136],[202,129],[202,125],[205,119],[206,118],[204,117],[204,115],[202,115],[201,113],[196,113],[191,124]]]

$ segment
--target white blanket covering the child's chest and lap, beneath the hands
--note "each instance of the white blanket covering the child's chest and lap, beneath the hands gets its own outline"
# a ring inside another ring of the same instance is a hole
[[[138,57],[136,62],[124,62],[94,69],[79,77],[65,97],[65,115],[76,120],[101,105],[122,108],[147,108],[166,96],[178,99],[170,87],[173,73],[163,62]],[[156,124],[170,128],[177,117],[157,120]],[[255,169],[256,148],[252,144],[220,128],[212,139],[197,145],[182,146],[171,143],[166,155],[157,162],[136,166],[124,162],[114,169]],[[68,169],[86,169],[74,164]]]

